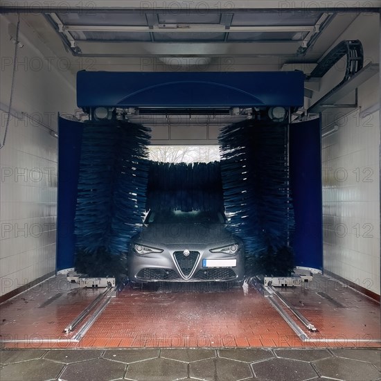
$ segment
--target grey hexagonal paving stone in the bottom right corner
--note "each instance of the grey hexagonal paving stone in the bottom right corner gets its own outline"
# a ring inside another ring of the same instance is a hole
[[[375,366],[357,360],[331,357],[317,360],[314,365],[321,376],[336,380],[370,381],[381,377]]]

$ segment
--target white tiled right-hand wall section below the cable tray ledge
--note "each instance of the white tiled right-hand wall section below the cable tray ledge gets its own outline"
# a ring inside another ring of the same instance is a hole
[[[324,268],[380,294],[379,112],[323,138]]]

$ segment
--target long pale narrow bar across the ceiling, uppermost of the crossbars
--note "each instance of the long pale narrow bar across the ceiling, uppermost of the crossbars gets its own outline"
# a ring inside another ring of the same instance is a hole
[[[81,32],[150,32],[150,33],[195,33],[195,32],[227,32],[224,25],[184,25],[184,24],[159,24],[150,26],[112,26],[112,25],[64,25],[65,31]],[[312,32],[314,26],[230,26],[229,33],[249,32]]]

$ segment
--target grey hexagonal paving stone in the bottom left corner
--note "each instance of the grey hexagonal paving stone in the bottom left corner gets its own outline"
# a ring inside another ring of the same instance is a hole
[[[48,360],[30,360],[4,365],[0,370],[1,381],[41,381],[57,378],[64,364]]]

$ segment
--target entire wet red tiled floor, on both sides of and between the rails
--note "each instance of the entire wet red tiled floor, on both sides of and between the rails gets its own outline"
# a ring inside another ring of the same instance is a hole
[[[60,277],[1,305],[0,339],[6,348],[380,347],[367,340],[381,337],[378,303],[348,287],[337,293],[312,286],[282,295],[317,327],[310,333],[298,324],[316,342],[303,342],[254,288],[245,296],[240,287],[130,286],[111,298],[85,336],[73,342],[78,330],[67,335],[64,328],[103,290],[79,289]]]

